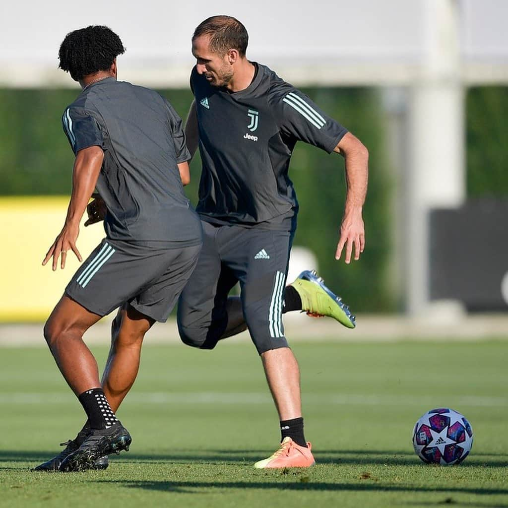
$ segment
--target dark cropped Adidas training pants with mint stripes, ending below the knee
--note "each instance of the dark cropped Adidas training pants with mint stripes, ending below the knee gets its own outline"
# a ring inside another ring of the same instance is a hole
[[[282,304],[293,233],[202,221],[198,265],[178,302],[182,340],[213,348],[228,324],[226,302],[240,282],[243,315],[258,352],[287,347]]]

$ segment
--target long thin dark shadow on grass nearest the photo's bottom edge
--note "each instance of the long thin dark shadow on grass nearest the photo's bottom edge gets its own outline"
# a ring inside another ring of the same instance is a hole
[[[146,489],[161,492],[195,493],[195,489],[277,489],[290,491],[349,491],[349,492],[446,492],[456,494],[478,495],[507,495],[508,489],[473,489],[467,487],[404,487],[399,485],[379,485],[365,483],[327,483],[301,481],[295,478],[294,482],[154,482],[154,481],[128,481],[128,480],[98,480],[98,483],[114,483],[133,489]]]

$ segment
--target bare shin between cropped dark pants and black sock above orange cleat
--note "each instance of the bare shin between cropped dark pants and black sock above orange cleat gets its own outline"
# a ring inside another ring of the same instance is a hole
[[[280,347],[266,351],[262,353],[261,360],[279,420],[300,418],[300,369],[291,349]]]

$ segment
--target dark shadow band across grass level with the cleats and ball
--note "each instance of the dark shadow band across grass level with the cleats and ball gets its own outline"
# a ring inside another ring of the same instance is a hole
[[[177,449],[171,453],[145,453],[135,451],[122,453],[115,460],[125,462],[197,462],[197,463],[252,463],[266,457],[272,450],[192,450]],[[52,451],[0,451],[0,462],[42,462],[59,453],[58,448]],[[499,455],[505,460],[499,460],[496,455],[473,455],[464,461],[460,467],[506,467],[508,455]],[[414,453],[407,451],[384,450],[366,452],[365,450],[328,450],[314,452],[318,464],[352,464],[352,465],[419,465],[424,466]]]

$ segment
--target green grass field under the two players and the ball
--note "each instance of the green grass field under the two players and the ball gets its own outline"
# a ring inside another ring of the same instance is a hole
[[[105,338],[106,342],[106,338]],[[0,506],[508,507],[508,342],[294,344],[317,465],[255,470],[279,431],[251,344],[150,346],[118,411],[133,435],[106,471],[29,468],[83,411],[45,348],[0,350]],[[94,348],[101,362],[106,348]],[[450,406],[474,430],[460,466],[420,462],[411,431]]]

